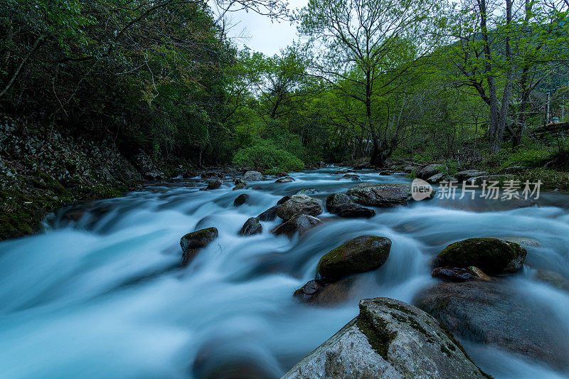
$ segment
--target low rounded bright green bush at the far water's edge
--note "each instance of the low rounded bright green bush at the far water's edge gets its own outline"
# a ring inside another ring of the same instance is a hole
[[[289,153],[289,151],[274,146],[270,140],[258,141],[252,146],[240,149],[233,156],[233,164],[267,171],[267,174],[304,169],[302,160]]]

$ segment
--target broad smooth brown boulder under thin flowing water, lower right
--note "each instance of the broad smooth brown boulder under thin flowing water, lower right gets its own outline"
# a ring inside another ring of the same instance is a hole
[[[469,341],[569,368],[569,336],[563,322],[543,305],[503,283],[440,283],[423,290],[414,304]]]

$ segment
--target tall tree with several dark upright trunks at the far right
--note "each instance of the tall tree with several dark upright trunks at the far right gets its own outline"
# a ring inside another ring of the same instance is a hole
[[[546,66],[567,56],[559,41],[567,36],[566,17],[553,4],[531,0],[463,1],[454,9],[440,62],[450,73],[456,70],[455,87],[471,87],[489,107],[491,151],[501,148],[505,131],[519,143],[531,92],[551,73]],[[520,103],[514,119],[513,92]]]

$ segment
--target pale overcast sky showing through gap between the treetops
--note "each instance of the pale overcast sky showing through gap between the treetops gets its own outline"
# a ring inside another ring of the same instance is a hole
[[[289,0],[289,9],[302,8],[308,0]],[[234,24],[228,35],[235,43],[274,55],[297,39],[297,27],[289,21],[272,21],[266,16],[240,11],[231,15]]]

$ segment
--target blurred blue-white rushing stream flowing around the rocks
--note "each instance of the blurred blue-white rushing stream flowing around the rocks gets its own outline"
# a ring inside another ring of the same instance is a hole
[[[223,378],[219,373],[231,370],[278,378],[356,316],[359,299],[412,302],[437,282],[430,277],[432,257],[468,237],[540,242],[526,247],[526,266],[503,285],[548,309],[552,316],[543,323],[569,336],[569,294],[533,279],[540,268],[569,277],[567,194],[541,193],[539,207],[528,208],[435,198],[376,208],[370,219],[325,211],[324,222],[302,237],[272,235],[278,220],[262,223],[260,235],[238,235],[245,220],[282,196],[314,188],[311,196],[324,201],[358,184],[339,180],[337,169],[239,191],[229,180],[215,191],[198,191],[204,186],[198,178],[171,181],[63,210],[48,218],[46,233],[1,242],[0,378]],[[374,171],[358,175],[375,183],[409,181]],[[250,199],[235,207],[240,193]],[[191,265],[177,267],[180,237],[209,226],[218,228],[218,239]],[[389,237],[393,247],[383,267],[357,275],[348,301],[322,307],[292,297],[314,279],[322,255],[362,234]],[[464,346],[496,378],[563,377],[523,356]]]

